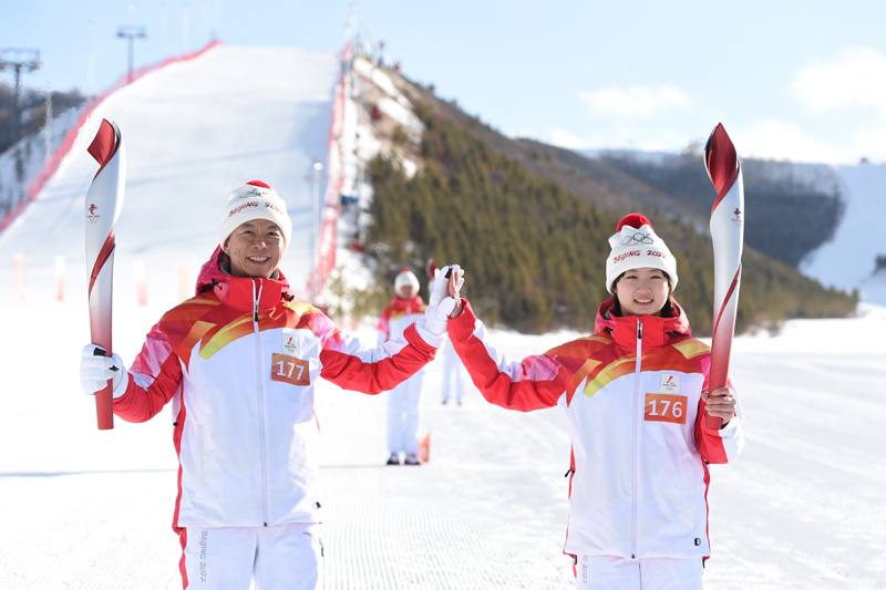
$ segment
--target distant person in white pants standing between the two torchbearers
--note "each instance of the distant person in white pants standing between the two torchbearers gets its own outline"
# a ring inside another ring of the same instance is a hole
[[[445,282],[445,280],[443,280]],[[394,298],[379,319],[379,345],[403,337],[403,332],[420,320],[425,306],[419,294],[419,279],[404,268],[394,278]],[[418,371],[388,393],[388,465],[420,465],[419,417],[424,371]]]

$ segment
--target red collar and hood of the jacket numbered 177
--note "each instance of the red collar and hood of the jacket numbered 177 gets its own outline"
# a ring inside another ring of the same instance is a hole
[[[213,291],[219,301],[239,310],[272,309],[280,301],[289,301],[289,282],[278,269],[276,279],[233,277],[223,268],[228,268],[228,256],[216,247],[213,256],[200,268],[197,278],[197,294]]]

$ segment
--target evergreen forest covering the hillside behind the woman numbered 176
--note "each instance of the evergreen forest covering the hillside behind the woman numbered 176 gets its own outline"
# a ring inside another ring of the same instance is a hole
[[[616,216],[533,176],[427,105],[416,114],[425,125],[426,166],[406,178],[394,161],[379,156],[369,170],[375,195],[365,250],[379,261],[379,282],[391,284],[400,268],[422,269],[427,258],[459,262],[467,270],[464,292],[486,323],[528,333],[591,332],[608,297],[605,261]],[[680,221],[651,221],[677,258],[676,297],[693,333],[710,334],[710,238]],[[749,252],[738,329],[847,315],[856,303],[857,293],[824,289],[785,263]]]

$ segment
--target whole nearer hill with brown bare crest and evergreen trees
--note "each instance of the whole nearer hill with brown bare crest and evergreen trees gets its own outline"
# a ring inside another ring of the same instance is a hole
[[[387,73],[413,102],[425,130],[420,145],[406,142],[371,166],[374,225],[364,246],[381,262],[380,284],[404,263],[461,260],[473,270],[467,287],[482,293],[472,301],[484,318],[533,333],[593,330],[596,307],[608,297],[600,279],[608,237],[621,216],[639,210],[653,218],[674,251],[681,269],[676,296],[691,310],[693,331],[710,333],[713,260],[707,219],[606,163],[507,138],[430,87]],[[416,172],[403,174],[406,166],[398,163],[405,159]],[[521,211],[517,218],[514,210]],[[503,265],[513,277],[501,273]],[[740,332],[776,328],[787,318],[852,314],[858,301],[857,292],[825,289],[750,247],[743,279]]]

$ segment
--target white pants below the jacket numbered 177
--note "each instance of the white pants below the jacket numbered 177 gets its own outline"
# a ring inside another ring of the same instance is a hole
[[[321,525],[182,530],[184,588],[199,590],[315,590],[322,587]]]

